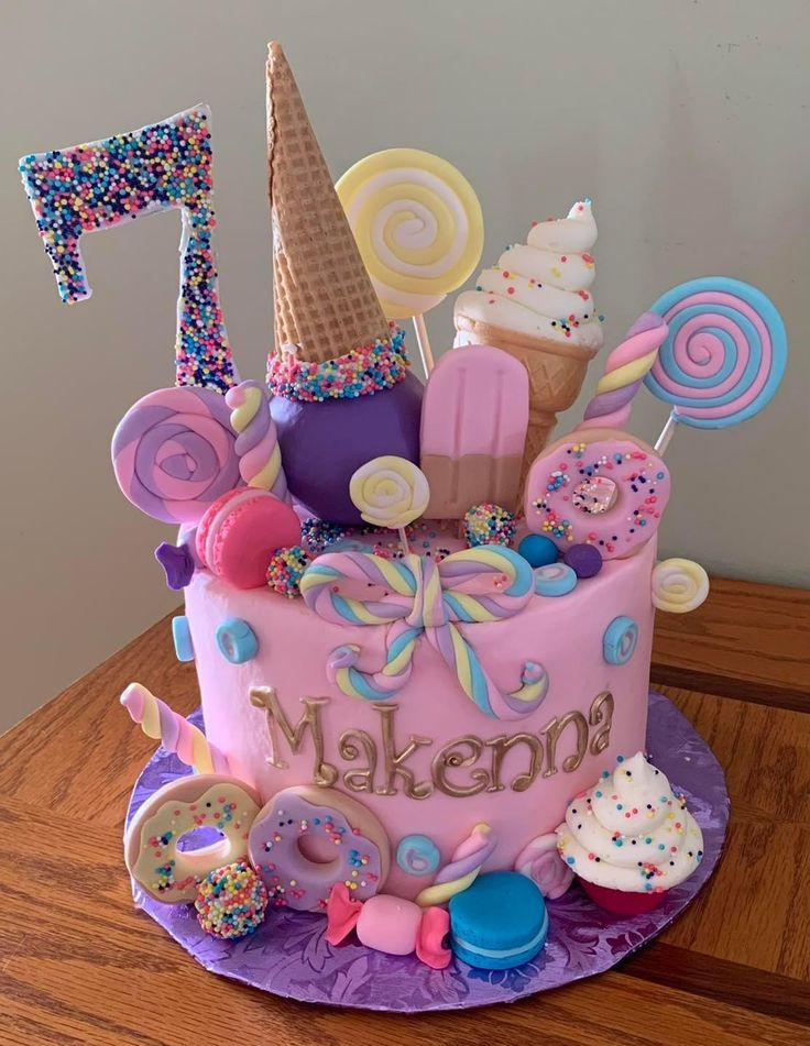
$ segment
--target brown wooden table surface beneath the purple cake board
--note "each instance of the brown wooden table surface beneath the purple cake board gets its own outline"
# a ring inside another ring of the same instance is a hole
[[[729,838],[709,885],[601,977],[406,1017],[216,978],[133,906],[122,823],[154,745],[118,696],[142,679],[180,712],[197,704],[194,668],[160,621],[0,739],[0,1043],[810,1043],[810,593],[714,580],[699,610],[658,615],[653,660],[653,683],[727,774]]]

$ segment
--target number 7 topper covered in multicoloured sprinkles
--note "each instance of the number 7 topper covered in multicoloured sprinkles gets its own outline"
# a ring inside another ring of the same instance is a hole
[[[89,298],[83,233],[179,208],[178,385],[226,392],[238,377],[219,304],[211,231],[210,110],[195,106],[100,142],[23,156],[25,192],[63,301]]]

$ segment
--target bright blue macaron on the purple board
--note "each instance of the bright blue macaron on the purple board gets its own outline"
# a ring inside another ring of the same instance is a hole
[[[450,900],[450,947],[470,966],[511,970],[543,949],[546,902],[519,872],[488,872]]]

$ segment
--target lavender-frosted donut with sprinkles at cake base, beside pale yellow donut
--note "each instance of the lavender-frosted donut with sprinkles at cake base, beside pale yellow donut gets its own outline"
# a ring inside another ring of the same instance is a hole
[[[391,868],[391,844],[377,818],[332,789],[294,785],[260,811],[248,840],[251,863],[273,907],[326,912],[329,891],[373,898]]]

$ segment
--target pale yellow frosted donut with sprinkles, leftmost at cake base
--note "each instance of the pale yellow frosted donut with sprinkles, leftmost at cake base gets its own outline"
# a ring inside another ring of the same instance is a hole
[[[127,868],[156,901],[190,903],[209,872],[244,858],[260,806],[259,793],[237,778],[198,773],[169,781],[146,800],[127,829]],[[219,838],[182,849],[183,837],[199,828],[214,829]]]

